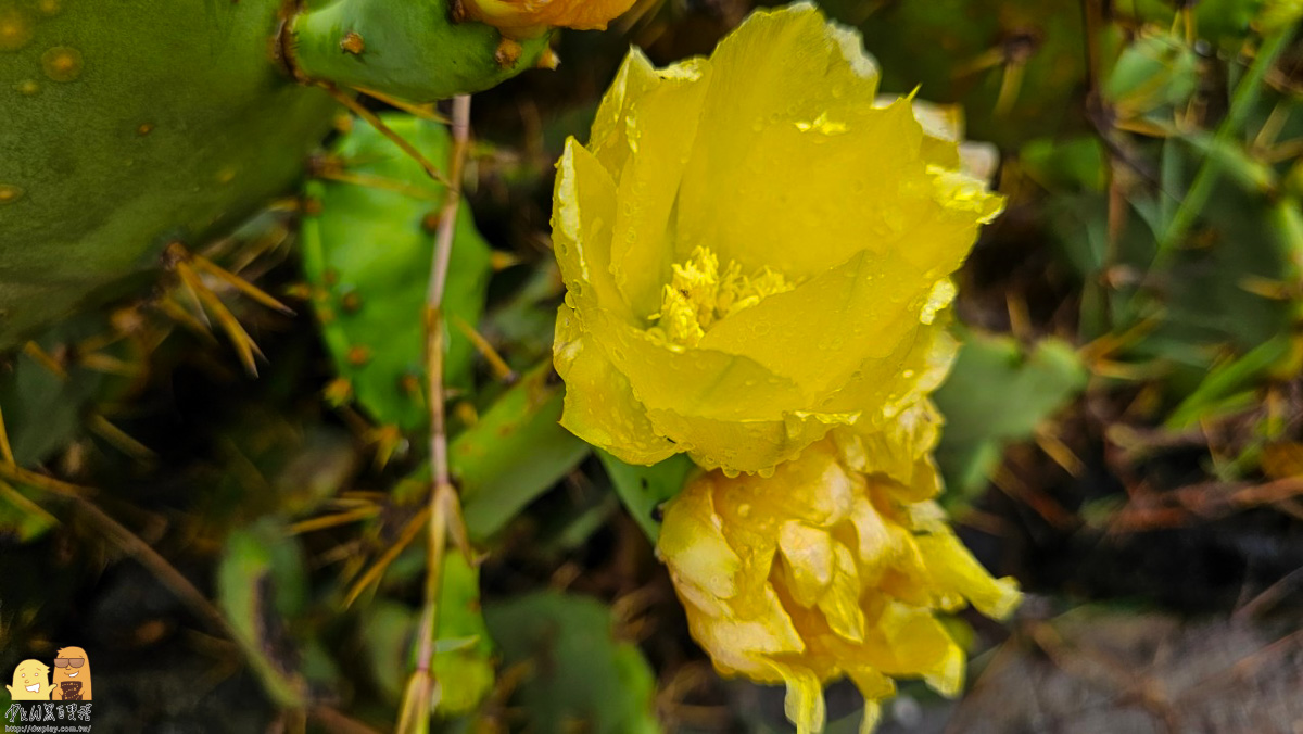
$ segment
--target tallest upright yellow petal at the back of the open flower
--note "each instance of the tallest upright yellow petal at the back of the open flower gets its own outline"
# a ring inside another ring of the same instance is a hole
[[[835,213],[842,222],[872,215],[846,216],[856,209],[839,205],[852,194],[837,196],[835,188],[850,183],[844,177],[866,160],[861,158],[866,149],[881,147],[891,160],[899,158],[899,149],[873,142],[876,129],[857,126],[859,117],[873,116],[878,80],[859,34],[829,23],[801,3],[752,13],[710,61],[711,87],[683,180],[680,256],[709,242],[723,261],[737,259],[744,270],[769,265],[788,276],[846,261],[864,240],[825,253],[837,246],[838,223],[823,215]],[[908,141],[893,139],[898,143],[909,147]],[[792,181],[784,171],[820,171],[820,176]],[[721,197],[722,190],[730,196]],[[860,192],[861,211],[866,193]],[[812,222],[818,222],[817,246],[805,244]],[[818,259],[822,254],[831,257]],[[820,266],[795,267],[810,259]]]

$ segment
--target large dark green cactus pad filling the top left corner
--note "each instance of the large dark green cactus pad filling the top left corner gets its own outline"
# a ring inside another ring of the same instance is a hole
[[[0,0],[0,349],[291,186],[334,102],[279,0]]]

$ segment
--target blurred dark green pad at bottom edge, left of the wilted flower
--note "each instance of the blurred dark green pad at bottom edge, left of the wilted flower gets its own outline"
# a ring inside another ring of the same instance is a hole
[[[537,734],[654,734],[655,678],[638,648],[612,638],[602,604],[541,592],[485,609],[503,665],[529,664],[516,697]]]

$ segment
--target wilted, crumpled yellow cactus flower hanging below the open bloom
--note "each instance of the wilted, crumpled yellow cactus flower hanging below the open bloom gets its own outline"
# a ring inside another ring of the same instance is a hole
[[[936,435],[929,411],[869,441],[837,429],[769,478],[702,475],[666,511],[658,551],[692,636],[721,673],[786,683],[800,734],[822,730],[833,679],[864,694],[865,733],[893,678],[958,694],[964,651],[937,613],[967,600],[1003,618],[1019,601],[916,490],[920,471],[934,473],[919,463]]]

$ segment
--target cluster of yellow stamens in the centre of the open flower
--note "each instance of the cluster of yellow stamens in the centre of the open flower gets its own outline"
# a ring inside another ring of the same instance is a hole
[[[696,248],[688,259],[674,263],[674,276],[661,293],[661,310],[648,317],[648,331],[671,344],[696,347],[717,322],[796,286],[769,267],[744,275],[736,261],[719,270],[710,248]]]

